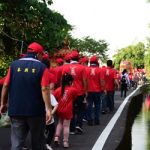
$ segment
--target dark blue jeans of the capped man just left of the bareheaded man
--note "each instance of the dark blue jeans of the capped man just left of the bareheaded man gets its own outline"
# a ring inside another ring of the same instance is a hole
[[[88,121],[99,121],[101,113],[101,93],[88,92],[87,96],[87,119]],[[93,108],[94,105],[94,108]],[[94,115],[94,116],[93,116]]]

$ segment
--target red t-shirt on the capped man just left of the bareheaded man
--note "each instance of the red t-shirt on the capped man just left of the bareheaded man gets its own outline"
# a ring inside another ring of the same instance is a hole
[[[99,67],[90,66],[86,69],[86,79],[87,79],[87,91],[88,92],[100,92],[101,89],[101,79],[104,79],[104,73]]]

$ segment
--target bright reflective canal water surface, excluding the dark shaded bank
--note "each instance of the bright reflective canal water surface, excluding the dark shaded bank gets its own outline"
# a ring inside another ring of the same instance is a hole
[[[132,150],[150,150],[150,95],[144,97],[132,130]]]

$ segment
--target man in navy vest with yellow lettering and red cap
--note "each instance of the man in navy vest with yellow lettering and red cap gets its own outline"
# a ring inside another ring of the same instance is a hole
[[[51,120],[51,103],[49,72],[41,63],[42,55],[43,47],[31,43],[27,55],[10,65],[2,88],[0,112],[5,113],[8,106],[11,150],[22,150],[28,132],[32,150],[46,150],[44,131]]]

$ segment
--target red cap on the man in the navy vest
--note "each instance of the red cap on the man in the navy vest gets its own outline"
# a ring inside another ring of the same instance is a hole
[[[43,53],[44,48],[37,42],[33,42],[28,46],[28,52]]]

